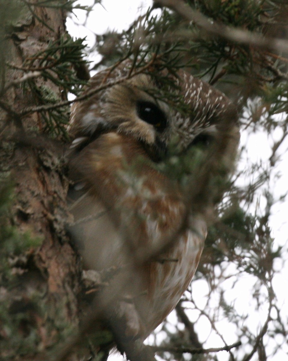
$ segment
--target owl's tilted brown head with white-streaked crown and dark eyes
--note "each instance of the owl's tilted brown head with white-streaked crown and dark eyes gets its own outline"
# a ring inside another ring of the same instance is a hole
[[[166,153],[171,139],[177,139],[178,151],[183,151],[190,144],[209,144],[227,127],[237,133],[235,106],[209,84],[182,70],[177,77],[167,74],[175,87],[168,89],[170,96],[165,100],[158,78],[131,72],[130,66],[125,62],[90,79],[83,93],[87,99],[71,109],[69,132],[74,147],[81,148],[100,134],[115,131],[141,142],[157,160]],[[182,99],[184,110],[175,107],[178,99]]]

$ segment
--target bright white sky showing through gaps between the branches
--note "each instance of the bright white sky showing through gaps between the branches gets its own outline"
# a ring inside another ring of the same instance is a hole
[[[93,5],[94,1],[79,1],[81,5]],[[71,35],[76,38],[83,38],[87,36],[87,45],[88,47],[93,46],[95,41],[95,36],[93,33],[96,34],[103,34],[106,32],[107,29],[109,30],[122,30],[128,28],[130,24],[135,20],[136,16],[139,15],[139,11],[141,13],[145,13],[148,6],[152,5],[152,0],[102,0],[102,5],[95,6],[95,10],[90,14],[87,19],[87,22],[84,26],[79,25],[75,26],[75,23],[83,24],[86,19],[86,13],[84,11],[77,11],[77,18],[75,16],[71,16],[71,18],[67,19],[67,29]],[[98,62],[100,60],[99,57],[93,57],[93,61]],[[276,129],[274,134],[270,137],[275,139],[279,139],[281,136],[281,130]],[[248,136],[247,133],[243,133],[241,135],[241,144],[244,144],[247,149],[247,156],[250,160],[267,160],[270,157],[271,152],[271,144],[272,139],[267,139],[265,134],[258,133],[256,135]],[[278,197],[285,192],[287,192],[288,188],[288,156],[287,156],[287,142],[283,144],[278,154],[284,154],[282,157],[282,162],[277,167],[276,171],[280,171],[282,177],[276,181],[274,178],[275,183],[271,184],[272,190],[274,190],[275,197]],[[241,160],[240,166],[245,166],[245,159]],[[260,196],[260,203],[264,202],[264,198]],[[265,205],[264,205],[265,206]],[[272,235],[275,237],[275,249],[278,245],[284,245],[287,243],[287,235],[288,235],[288,223],[287,223],[287,216],[288,216],[288,204],[287,201],[279,204],[275,204],[272,207],[273,214],[270,218],[270,224],[272,226]],[[274,278],[274,290],[276,295],[278,296],[278,303],[282,305],[282,312],[283,314],[288,314],[288,262],[285,263],[284,268],[283,264],[279,261],[275,263],[275,268],[279,268],[281,272],[275,276]],[[230,269],[231,271],[231,269]],[[236,270],[235,270],[236,271]],[[245,314],[247,309],[251,307],[251,314],[249,315],[248,319],[245,321],[246,325],[250,328],[250,330],[256,332],[259,330],[259,325],[263,324],[263,320],[266,319],[266,309],[262,310],[259,309],[259,312],[255,312],[255,305],[248,305],[248,300],[251,300],[251,287],[253,286],[254,280],[249,279],[248,276],[240,279],[237,284],[237,287],[232,289],[232,283],[234,279],[231,278],[230,281],[227,281],[226,289],[228,293],[231,293],[231,300],[235,300],[235,307],[239,311],[239,313]],[[249,286],[249,283],[251,285]],[[193,283],[193,292],[194,294],[197,293],[197,301],[200,303],[201,307],[201,300],[205,302],[205,296],[208,293],[207,284],[204,281],[197,280]],[[196,293],[195,293],[196,292]],[[201,297],[202,295],[203,297]],[[218,300],[211,300],[211,303],[217,303]],[[203,305],[204,306],[204,305]],[[196,317],[196,314],[191,312],[189,313],[189,317],[193,321],[193,318]],[[175,322],[176,318],[173,317],[173,314],[170,316],[170,321]],[[236,342],[237,335],[235,326],[232,324],[220,323],[217,325],[220,331],[223,331],[225,335],[225,340],[228,344]],[[200,335],[200,340],[204,341],[210,332],[210,325],[205,321],[205,317],[202,318],[202,322],[198,322],[195,325],[196,331]],[[281,340],[278,340],[279,342]],[[275,340],[277,342],[277,340]],[[219,347],[222,345],[222,341],[219,340],[219,336],[210,334],[209,336],[209,344],[206,343],[205,347]],[[274,345],[273,345],[274,346]],[[222,355],[223,354],[223,355]],[[279,352],[274,356],[274,358],[270,358],[269,360],[273,361],[288,361],[288,348],[287,350],[279,350]],[[221,352],[221,355],[218,355],[219,358],[223,361],[227,361],[229,354],[227,352]],[[111,356],[110,361],[114,360],[121,360],[122,357],[120,356]],[[252,360],[256,361],[256,358]]]

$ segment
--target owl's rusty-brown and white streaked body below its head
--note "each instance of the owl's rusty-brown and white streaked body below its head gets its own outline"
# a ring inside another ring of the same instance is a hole
[[[140,331],[136,316],[132,321],[125,316],[131,313],[126,307],[130,303],[122,307],[123,317],[133,325],[129,332],[148,335],[191,282],[206,224],[196,215],[187,217],[189,209],[178,183],[155,169],[131,137],[101,135],[75,155],[73,167],[84,188],[71,205],[71,233],[83,243],[80,253],[88,268],[125,267],[113,282],[116,288],[122,282],[122,296],[133,299],[134,314],[141,315],[145,330]],[[183,223],[186,218],[189,224]],[[165,252],[158,252],[148,263],[141,259],[142,254],[153,255],[167,240],[172,242]]]

